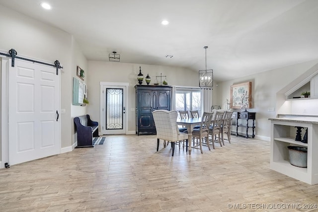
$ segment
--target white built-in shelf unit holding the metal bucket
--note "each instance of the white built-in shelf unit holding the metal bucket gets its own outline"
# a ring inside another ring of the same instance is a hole
[[[271,149],[270,168],[287,176],[293,177],[308,184],[318,184],[318,118],[285,117],[272,118],[271,120]],[[315,121],[316,120],[316,121]],[[295,141],[295,127],[303,127],[302,138],[305,130],[308,131],[307,141]],[[289,145],[307,147],[307,167],[297,167],[290,163]]]

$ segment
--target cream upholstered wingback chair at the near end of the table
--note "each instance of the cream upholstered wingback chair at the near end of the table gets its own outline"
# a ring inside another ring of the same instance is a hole
[[[177,112],[175,110],[155,110],[153,117],[157,131],[157,151],[159,150],[159,140],[170,141],[172,146],[172,156],[174,154],[175,142],[186,141],[186,151],[188,151],[188,134],[180,133],[177,125]]]

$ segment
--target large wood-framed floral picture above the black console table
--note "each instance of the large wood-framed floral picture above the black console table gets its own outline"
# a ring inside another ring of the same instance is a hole
[[[243,82],[231,85],[231,104],[233,109],[252,107],[252,82]]]

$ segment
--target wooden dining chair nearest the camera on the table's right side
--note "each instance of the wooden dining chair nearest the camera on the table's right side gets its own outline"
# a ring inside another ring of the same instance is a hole
[[[212,118],[213,118],[212,112],[204,112],[202,115],[202,121],[201,121],[200,128],[193,129],[193,131],[192,131],[193,142],[195,142],[194,140],[196,139],[196,144],[193,146],[193,148],[197,148],[197,146],[200,146],[201,153],[203,153],[203,149],[202,149],[202,140],[203,139],[205,139],[209,150],[211,150],[210,144],[209,144],[209,127],[210,127]],[[199,140],[199,144],[197,142],[198,140]]]

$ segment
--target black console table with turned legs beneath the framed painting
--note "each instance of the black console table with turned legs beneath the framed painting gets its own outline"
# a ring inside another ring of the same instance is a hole
[[[256,117],[256,113],[254,112],[233,112],[232,115],[232,120],[234,120],[234,122],[232,123],[232,126],[236,127],[236,136],[243,136],[246,139],[248,139],[248,129],[251,128],[252,129],[252,138],[255,137],[254,132],[255,132],[255,117]],[[246,125],[244,125],[243,123],[239,122],[239,119],[242,120],[246,120]],[[248,120],[252,120],[252,126],[248,125]],[[246,128],[246,134],[245,135],[240,135],[239,134],[239,127],[243,127]]]

